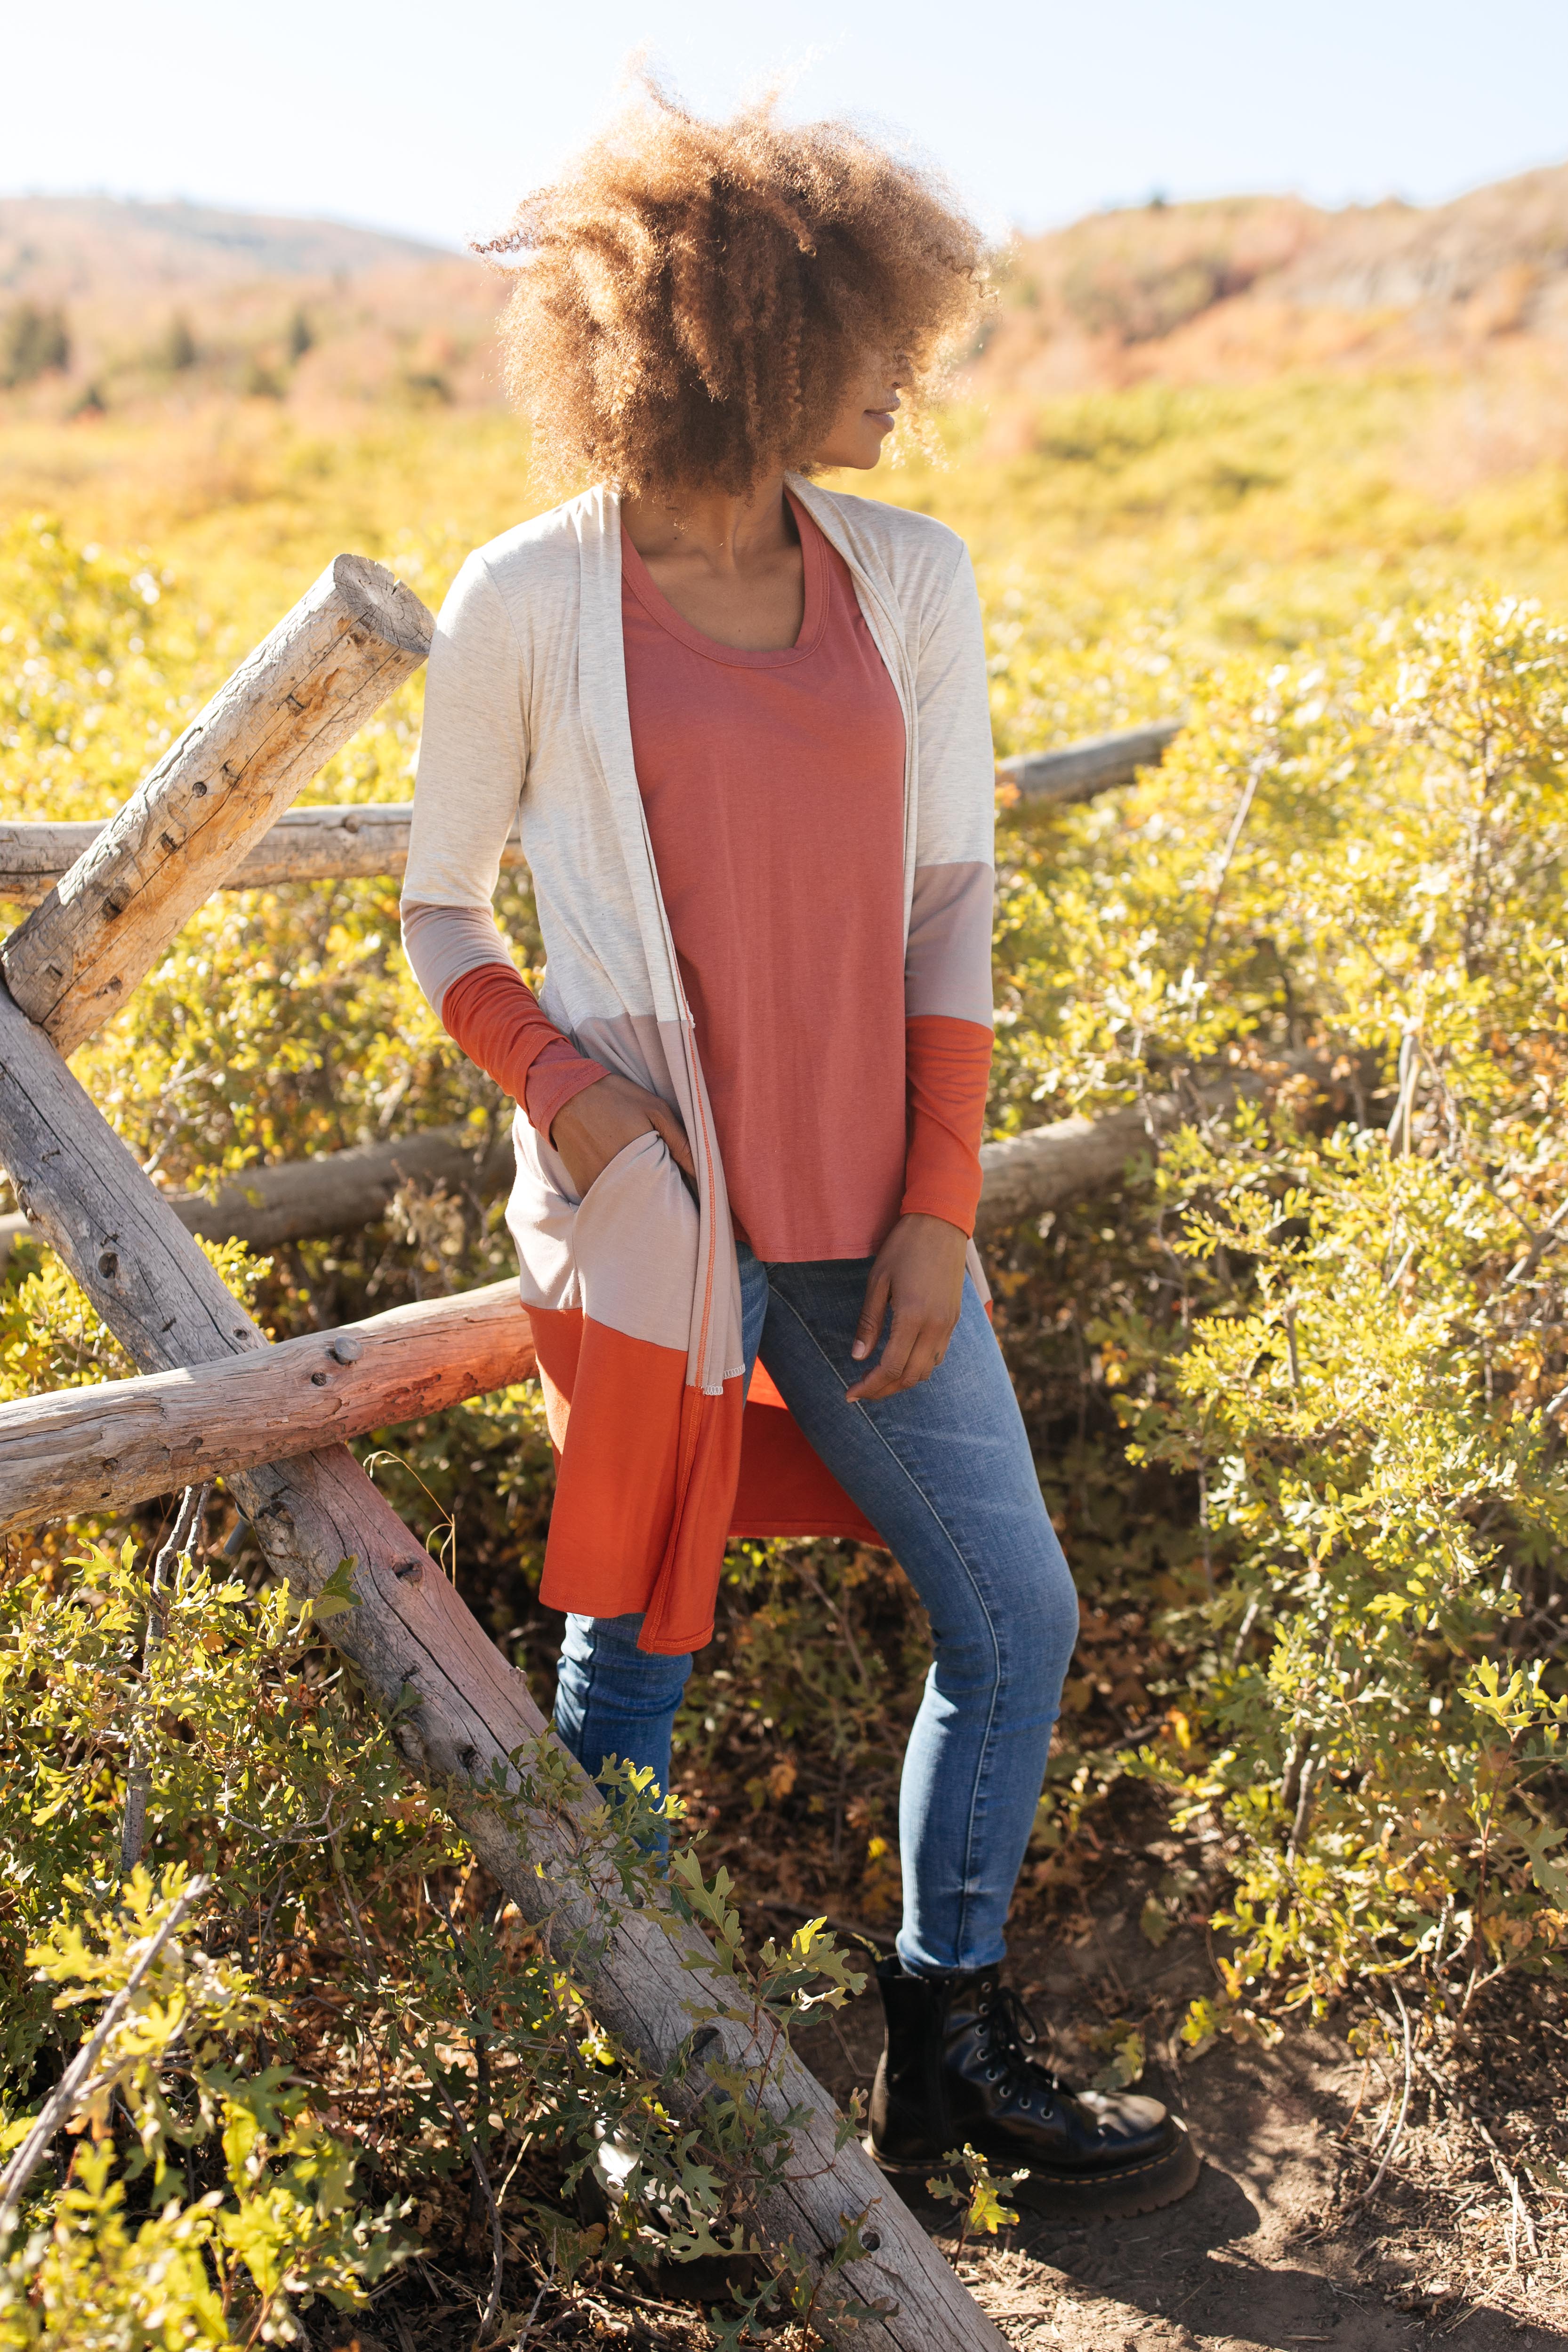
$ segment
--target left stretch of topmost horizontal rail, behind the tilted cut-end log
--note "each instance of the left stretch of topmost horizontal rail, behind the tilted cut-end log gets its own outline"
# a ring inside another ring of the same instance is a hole
[[[221,889],[277,889],[282,882],[353,882],[397,877],[409,863],[411,800],[355,800],[284,809],[254,849],[223,875]],[[108,818],[78,826],[0,823],[0,901],[38,906],[92,849]],[[503,868],[524,863],[508,840]]]

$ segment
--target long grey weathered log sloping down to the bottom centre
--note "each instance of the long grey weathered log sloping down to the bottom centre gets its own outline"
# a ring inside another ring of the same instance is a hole
[[[266,1348],[169,1202],[5,988],[0,1160],[33,1223],[143,1371]],[[703,2037],[715,2037],[712,2063],[766,2067],[766,2112],[780,2124],[799,2112],[792,2164],[757,2197],[764,2246],[792,2249],[820,2281],[827,2310],[839,2286],[886,2305],[856,2331],[867,2352],[1004,2352],[999,2331],[858,2143],[835,2150],[837,2114],[820,2084],[771,2034],[726,2013],[733,1987],[710,1973],[712,1950],[698,1929],[663,1900],[625,1910],[614,1891],[583,1882],[578,1856],[599,1799],[564,1750],[555,1750],[564,1797],[534,1804],[522,1820],[496,1804],[496,1785],[517,1788],[510,1759],[545,1738],[545,1722],[522,1675],[348,1449],[242,1470],[228,1489],[294,1592],[320,1592],[353,1559],[357,1606],[334,1616],[327,1632],[386,1710],[409,1771],[437,1790],[510,1900],[576,1966],[599,2023],[665,2077],[668,2107],[698,2119],[710,2096],[724,2096],[693,2042],[696,2004],[712,2018],[703,2025]],[[858,2213],[870,2216],[865,2253],[835,2272],[832,2249]]]

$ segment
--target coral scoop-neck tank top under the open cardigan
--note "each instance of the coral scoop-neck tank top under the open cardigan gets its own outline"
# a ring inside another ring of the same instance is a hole
[[[790,508],[780,652],[701,635],[621,534],[625,691],[736,1225],[759,1258],[863,1258],[905,1190],[905,729],[849,567]]]

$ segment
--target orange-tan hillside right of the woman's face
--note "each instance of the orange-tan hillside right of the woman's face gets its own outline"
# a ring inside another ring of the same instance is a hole
[[[1568,355],[1568,165],[1434,207],[1258,195],[1093,214],[1018,245],[971,383],[1462,369],[1507,341]]]

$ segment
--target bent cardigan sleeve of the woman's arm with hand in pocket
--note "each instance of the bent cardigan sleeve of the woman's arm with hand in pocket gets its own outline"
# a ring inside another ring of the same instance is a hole
[[[430,644],[402,943],[444,1030],[548,1134],[604,1070],[545,1016],[496,927],[527,764],[522,654],[501,590],[470,555]]]

